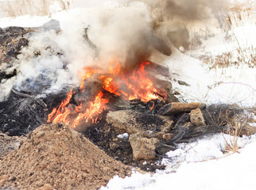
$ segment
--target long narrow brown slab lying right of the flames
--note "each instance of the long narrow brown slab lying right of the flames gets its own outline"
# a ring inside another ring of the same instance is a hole
[[[188,104],[173,102],[159,109],[158,114],[170,116],[180,112],[191,112],[191,110],[195,108],[205,108],[205,105],[199,102],[192,102]]]

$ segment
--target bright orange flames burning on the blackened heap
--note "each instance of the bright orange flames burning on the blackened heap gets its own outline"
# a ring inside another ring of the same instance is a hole
[[[53,108],[48,115],[48,122],[53,124],[61,122],[71,127],[77,127],[82,122],[96,123],[99,114],[103,112],[108,103],[108,100],[103,98],[104,92],[115,94],[126,100],[140,99],[143,102],[156,100],[157,89],[153,87],[153,82],[147,76],[145,71],[147,65],[149,62],[142,61],[140,67],[135,68],[133,72],[125,72],[116,60],[110,63],[109,70],[105,73],[103,70],[92,67],[85,68],[80,91],[84,93],[87,90],[85,84],[89,78],[96,77],[101,84],[101,89],[95,95],[94,101],[91,101],[89,105],[83,102],[80,102],[78,106],[72,105],[70,101],[76,92],[71,89],[66,100],[62,101],[58,108]]]

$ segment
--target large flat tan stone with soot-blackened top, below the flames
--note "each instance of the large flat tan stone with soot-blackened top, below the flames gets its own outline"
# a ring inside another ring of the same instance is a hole
[[[173,127],[173,120],[166,116],[157,116],[136,112],[134,110],[120,110],[107,113],[107,123],[119,131],[126,131],[128,134],[138,132],[157,133],[169,131]]]

